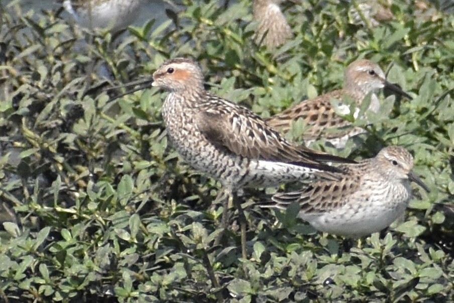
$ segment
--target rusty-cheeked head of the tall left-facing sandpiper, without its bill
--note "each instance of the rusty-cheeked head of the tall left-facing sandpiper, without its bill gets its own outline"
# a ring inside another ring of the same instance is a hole
[[[171,59],[153,73],[152,86],[163,87],[171,92],[203,90],[202,70],[191,59]]]

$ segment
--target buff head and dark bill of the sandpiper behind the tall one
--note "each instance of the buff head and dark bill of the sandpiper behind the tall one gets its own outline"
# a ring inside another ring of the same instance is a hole
[[[409,99],[412,98],[402,88],[388,82],[385,73],[377,63],[366,59],[359,59],[350,63],[345,70],[344,87],[349,90],[362,90],[365,94],[386,87]]]

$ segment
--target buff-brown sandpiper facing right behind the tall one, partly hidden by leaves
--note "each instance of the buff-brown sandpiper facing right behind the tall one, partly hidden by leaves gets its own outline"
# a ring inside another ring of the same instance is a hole
[[[291,129],[292,124],[297,120],[303,120],[308,127],[303,134],[302,139],[306,144],[323,137],[326,141],[331,142],[337,148],[345,146],[347,140],[355,135],[363,133],[362,128],[348,128],[351,123],[339,117],[331,106],[331,99],[339,99],[342,101],[344,96],[352,98],[359,107],[364,98],[371,92],[380,89],[388,88],[398,94],[401,94],[409,99],[412,97],[403,91],[400,87],[386,80],[385,73],[376,63],[360,59],[352,62],[346,69],[344,74],[344,88],[319,95],[315,98],[305,100],[300,104],[291,107],[282,113],[265,119],[266,123],[276,130],[287,132]],[[369,111],[377,112],[380,108],[378,97],[373,93],[371,95],[371,104]],[[339,106],[339,110],[343,114],[350,113],[348,105]],[[359,109],[355,112],[357,118]],[[326,132],[328,128],[348,128],[347,131]]]

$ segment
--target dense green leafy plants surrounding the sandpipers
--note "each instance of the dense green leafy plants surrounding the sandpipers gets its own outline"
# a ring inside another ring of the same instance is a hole
[[[367,27],[347,17],[356,3],[303,1],[284,10],[294,39],[267,50],[253,42],[249,0],[183,2],[116,38],[0,3],[0,301],[454,301],[451,8],[394,1],[393,20]],[[352,247],[293,208],[256,205],[278,188],[248,191],[249,258],[234,209],[214,246],[220,184],[167,147],[167,93],[105,91],[176,56],[263,117],[341,87],[359,57],[379,63],[414,99],[387,97],[344,150],[313,147],[362,159],[404,146],[431,192],[414,185],[405,218]]]

